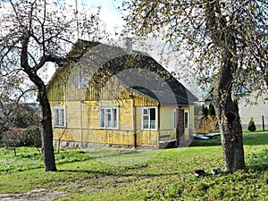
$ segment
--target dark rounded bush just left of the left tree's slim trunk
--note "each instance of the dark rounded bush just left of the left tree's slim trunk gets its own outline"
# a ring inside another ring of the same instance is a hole
[[[26,147],[41,147],[41,130],[38,126],[29,126],[21,131],[21,143]]]

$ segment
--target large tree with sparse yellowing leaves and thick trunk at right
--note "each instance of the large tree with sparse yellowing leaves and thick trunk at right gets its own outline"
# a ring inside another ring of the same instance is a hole
[[[133,34],[171,43],[187,56],[199,82],[212,84],[225,170],[243,169],[242,128],[231,95],[234,87],[259,94],[267,89],[267,1],[132,0],[124,9]]]

